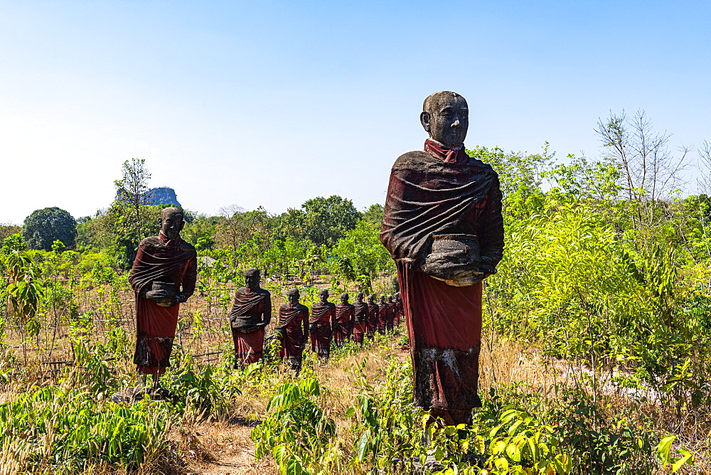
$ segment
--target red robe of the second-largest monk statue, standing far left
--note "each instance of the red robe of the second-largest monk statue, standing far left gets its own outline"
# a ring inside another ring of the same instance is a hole
[[[165,373],[170,366],[173,339],[178,326],[180,304],[160,306],[146,299],[154,280],[173,282],[183,297],[195,292],[197,277],[195,247],[180,237],[169,240],[161,231],[146,237],[138,247],[129,282],[136,292],[136,351],[134,363],[139,373]]]

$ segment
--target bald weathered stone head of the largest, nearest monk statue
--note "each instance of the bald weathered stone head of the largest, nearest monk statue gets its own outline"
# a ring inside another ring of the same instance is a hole
[[[466,129],[469,129],[469,107],[456,92],[435,92],[424,100],[419,122],[429,138],[454,149],[464,144]]]

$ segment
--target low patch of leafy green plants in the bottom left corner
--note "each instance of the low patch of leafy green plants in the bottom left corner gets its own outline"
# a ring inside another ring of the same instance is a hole
[[[0,404],[0,441],[26,459],[21,471],[75,473],[90,464],[137,469],[165,450],[164,406],[123,407],[71,385],[33,388]]]

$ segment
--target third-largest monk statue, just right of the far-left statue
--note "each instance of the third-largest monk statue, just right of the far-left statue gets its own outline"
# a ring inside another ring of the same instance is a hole
[[[230,311],[235,368],[257,363],[264,351],[264,327],[272,321],[272,296],[260,287],[260,270],[245,270],[245,287],[235,292]]]

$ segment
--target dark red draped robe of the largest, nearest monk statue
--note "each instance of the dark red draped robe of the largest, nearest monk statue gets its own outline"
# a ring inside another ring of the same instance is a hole
[[[392,166],[380,240],[397,263],[410,335],[415,404],[442,410],[479,407],[481,282],[453,287],[420,272],[432,235],[476,235],[482,262],[503,253],[498,176],[471,159],[464,146],[428,140],[426,151],[400,156]]]

